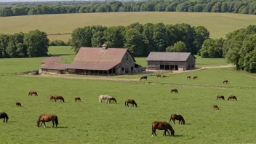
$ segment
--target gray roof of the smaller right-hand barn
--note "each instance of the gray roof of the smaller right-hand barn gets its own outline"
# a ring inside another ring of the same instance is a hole
[[[151,52],[148,55],[146,61],[177,61],[177,62],[183,62],[183,61],[188,60],[189,55],[192,55],[191,52]],[[195,57],[195,59],[196,59],[196,57]]]

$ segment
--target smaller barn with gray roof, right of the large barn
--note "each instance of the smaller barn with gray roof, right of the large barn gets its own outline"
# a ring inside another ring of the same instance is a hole
[[[196,57],[191,52],[151,52],[147,69],[185,71],[196,67]]]

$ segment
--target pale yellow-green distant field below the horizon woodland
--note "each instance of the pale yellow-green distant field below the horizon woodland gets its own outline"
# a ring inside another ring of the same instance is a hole
[[[0,17],[0,33],[28,32],[39,29],[47,33],[71,33],[86,25],[129,25],[131,23],[188,23],[205,26],[212,38],[249,24],[256,23],[255,15],[204,12],[110,12],[64,15],[31,15]],[[69,35],[49,36],[49,39],[68,41]]]

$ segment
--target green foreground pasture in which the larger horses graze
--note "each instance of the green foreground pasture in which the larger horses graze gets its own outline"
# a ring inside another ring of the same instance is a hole
[[[0,111],[9,115],[9,123],[0,123],[1,143],[255,143],[252,90],[178,87],[178,94],[170,94],[168,86],[116,81],[26,76],[0,76],[0,81]],[[39,97],[28,97],[31,89]],[[217,94],[226,99],[236,94],[238,101],[215,100]],[[50,95],[63,95],[66,103],[51,102]],[[118,104],[98,103],[99,95],[116,97]],[[75,103],[75,96],[82,102]],[[138,107],[124,107],[127,98]],[[55,113],[60,128],[36,128],[42,113]],[[151,123],[169,121],[171,113],[185,118],[185,125],[171,122],[176,137],[159,130],[151,137]]]

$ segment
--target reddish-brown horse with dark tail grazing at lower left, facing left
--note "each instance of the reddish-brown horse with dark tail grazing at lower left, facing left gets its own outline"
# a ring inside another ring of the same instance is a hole
[[[39,124],[41,121],[42,121],[41,124],[44,123],[44,128],[47,127],[45,125],[45,122],[52,121],[52,124],[53,124],[52,127],[54,127],[55,125],[57,127],[57,124],[59,124],[59,121],[57,120],[57,116],[55,114],[42,114],[41,116],[39,116],[39,119],[36,122],[36,127],[39,127]]]

